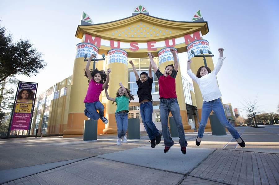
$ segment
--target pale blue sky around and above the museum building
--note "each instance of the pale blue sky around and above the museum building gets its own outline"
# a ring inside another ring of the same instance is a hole
[[[209,41],[216,65],[218,48],[224,48],[223,66],[217,74],[223,103],[231,103],[246,117],[244,101],[256,100],[258,111],[276,112],[279,104],[279,1],[278,0],[0,0],[0,25],[14,41],[28,39],[42,53],[47,67],[37,76],[16,75],[24,82],[38,82],[37,95],[73,73],[75,37],[82,11],[94,23],[106,23],[132,16],[144,6],[149,15],[175,21],[191,21],[200,10],[208,22]],[[181,74],[186,73],[188,56],[179,54]],[[192,80],[189,80],[192,82]]]

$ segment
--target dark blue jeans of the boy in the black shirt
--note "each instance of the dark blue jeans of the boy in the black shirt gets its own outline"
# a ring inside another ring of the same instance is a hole
[[[144,123],[144,128],[148,134],[150,140],[155,139],[158,136],[159,130],[157,130],[155,124],[152,121],[153,105],[152,102],[144,102],[139,104],[139,111],[142,121]]]

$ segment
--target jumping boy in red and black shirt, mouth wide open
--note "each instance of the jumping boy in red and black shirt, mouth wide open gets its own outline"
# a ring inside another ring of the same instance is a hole
[[[181,121],[180,109],[175,92],[175,77],[178,71],[179,64],[175,49],[170,48],[170,52],[173,55],[174,66],[172,64],[167,65],[164,74],[162,74],[162,72],[157,68],[150,52],[148,52],[148,57],[159,83],[160,117],[165,144],[164,153],[168,153],[171,146],[174,144],[172,138],[170,137],[170,131],[168,127],[168,116],[171,112],[178,131],[180,152],[184,155],[186,154],[186,146],[188,145],[188,143],[185,138],[184,127]]]

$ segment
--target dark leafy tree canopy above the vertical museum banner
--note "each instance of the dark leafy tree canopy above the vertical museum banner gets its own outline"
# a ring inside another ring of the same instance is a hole
[[[29,40],[13,43],[10,34],[0,25],[0,82],[15,74],[31,77],[37,75],[47,64],[41,59]]]

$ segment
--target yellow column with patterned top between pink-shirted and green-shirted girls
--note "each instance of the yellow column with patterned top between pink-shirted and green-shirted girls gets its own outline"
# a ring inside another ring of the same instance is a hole
[[[108,68],[111,69],[108,95],[112,98],[116,97],[119,89],[119,83],[128,88],[128,58],[127,52],[122,49],[112,49],[108,51]],[[106,116],[108,124],[103,130],[104,133],[117,133],[117,125],[115,120],[116,103],[112,105],[112,101],[106,99]]]

